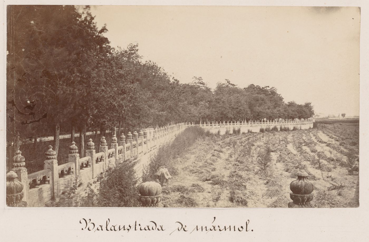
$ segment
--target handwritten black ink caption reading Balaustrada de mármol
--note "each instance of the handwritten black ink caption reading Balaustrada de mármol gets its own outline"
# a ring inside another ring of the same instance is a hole
[[[157,224],[155,221],[149,221],[147,224],[141,224],[141,222],[135,221],[132,224],[128,225],[120,225],[115,224],[110,221],[108,218],[104,224],[97,224],[93,222],[91,219],[82,218],[79,223],[82,224],[82,230],[85,231],[169,231],[170,234],[173,233],[183,233],[189,232],[249,232],[254,231],[253,229],[249,228],[249,220],[246,220],[243,225],[218,225],[215,222],[216,218],[213,218],[213,222],[209,225],[195,225],[193,227],[189,227],[183,222],[175,222],[172,226],[165,226],[163,224]]]

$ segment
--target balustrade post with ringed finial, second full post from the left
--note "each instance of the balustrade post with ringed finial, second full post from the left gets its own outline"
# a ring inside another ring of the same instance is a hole
[[[52,199],[58,195],[58,182],[59,182],[59,171],[58,171],[58,160],[56,160],[56,151],[52,150],[52,146],[48,146],[48,150],[45,152],[46,160],[44,161],[44,169],[51,170],[51,192]]]

